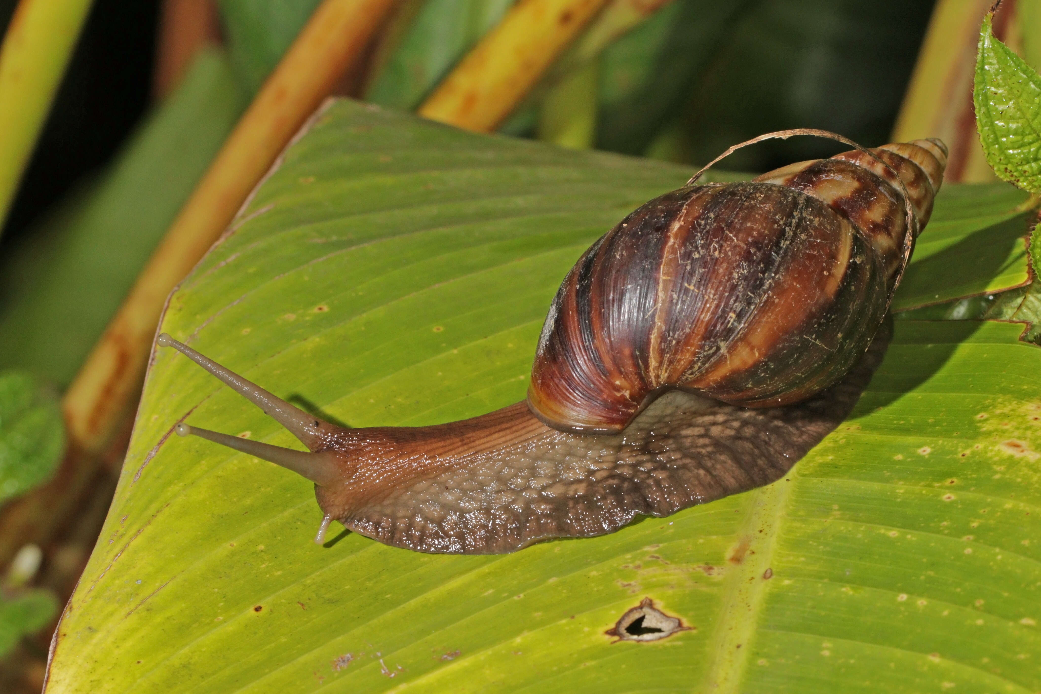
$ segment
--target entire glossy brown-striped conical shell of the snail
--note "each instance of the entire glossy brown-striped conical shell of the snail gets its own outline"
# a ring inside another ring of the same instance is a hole
[[[914,140],[652,200],[561,284],[529,407],[617,432],[670,388],[752,407],[827,388],[882,323],[945,163],[940,140]]]

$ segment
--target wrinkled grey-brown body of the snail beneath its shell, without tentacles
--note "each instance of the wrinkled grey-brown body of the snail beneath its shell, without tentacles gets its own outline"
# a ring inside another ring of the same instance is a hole
[[[363,445],[331,442],[351,451],[344,460],[361,479],[316,486],[319,503],[352,531],[429,552],[611,533],[784,475],[846,417],[888,340],[881,330],[845,379],[797,405],[743,408],[671,390],[613,435],[551,429],[524,403],[453,425],[367,430]],[[473,453],[430,453],[451,451],[463,428],[485,433]],[[382,436],[414,457],[388,462]]]

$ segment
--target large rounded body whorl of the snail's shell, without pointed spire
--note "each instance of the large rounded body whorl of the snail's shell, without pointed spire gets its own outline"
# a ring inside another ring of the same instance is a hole
[[[843,283],[880,276],[847,273],[854,256],[866,266],[874,254],[844,217],[788,187],[715,184],[653,201],[590,249],[561,286],[533,369],[532,411],[569,430],[620,431],[668,386],[725,402],[777,402],[776,377],[753,392],[741,375],[761,372],[757,364],[793,339],[801,344],[792,336],[809,324],[818,326],[809,339],[837,349],[826,335],[834,319],[826,318],[841,311],[829,305],[849,294]],[[805,353],[852,361],[818,351]],[[839,376],[795,375],[794,400]]]

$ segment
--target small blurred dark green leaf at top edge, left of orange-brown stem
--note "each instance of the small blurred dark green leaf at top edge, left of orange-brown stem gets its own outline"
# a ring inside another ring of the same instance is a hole
[[[219,0],[231,63],[242,88],[260,91],[321,0]]]

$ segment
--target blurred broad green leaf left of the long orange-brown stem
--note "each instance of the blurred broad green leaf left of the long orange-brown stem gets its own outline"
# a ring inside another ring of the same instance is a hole
[[[75,376],[245,103],[224,56],[202,52],[90,189],[0,265],[0,365]]]

